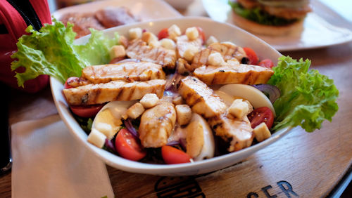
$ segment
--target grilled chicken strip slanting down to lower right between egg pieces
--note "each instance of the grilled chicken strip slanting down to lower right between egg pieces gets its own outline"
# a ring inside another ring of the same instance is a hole
[[[248,118],[237,119],[227,114],[225,103],[202,81],[196,77],[186,77],[180,81],[178,92],[193,112],[208,120],[216,136],[232,140],[228,149],[230,152],[251,145],[253,129]]]

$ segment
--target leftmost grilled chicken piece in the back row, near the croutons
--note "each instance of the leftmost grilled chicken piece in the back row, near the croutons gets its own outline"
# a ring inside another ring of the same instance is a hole
[[[163,47],[152,47],[146,45],[141,39],[130,41],[126,49],[127,56],[130,58],[153,62],[162,65],[170,70],[175,68],[176,53],[174,50]]]

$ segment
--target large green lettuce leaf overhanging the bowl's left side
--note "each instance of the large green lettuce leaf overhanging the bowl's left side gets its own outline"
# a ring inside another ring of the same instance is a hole
[[[62,83],[68,77],[80,77],[82,69],[88,65],[106,64],[110,60],[111,46],[118,44],[118,34],[109,39],[103,32],[91,29],[92,37],[87,44],[75,45],[76,33],[73,25],[67,27],[62,22],[53,20],[53,25],[46,24],[39,32],[32,26],[27,27],[29,35],[18,39],[18,51],[11,58],[11,70],[25,67],[25,72],[16,72],[18,86],[41,74],[55,77]]]

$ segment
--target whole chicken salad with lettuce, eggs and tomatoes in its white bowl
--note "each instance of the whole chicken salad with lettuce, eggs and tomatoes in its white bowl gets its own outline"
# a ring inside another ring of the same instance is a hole
[[[216,171],[296,126],[320,128],[338,109],[333,81],[309,60],[207,18],[92,29],[77,40],[61,22],[28,31],[13,55],[13,70],[26,67],[19,85],[49,74],[73,136],[123,171]]]

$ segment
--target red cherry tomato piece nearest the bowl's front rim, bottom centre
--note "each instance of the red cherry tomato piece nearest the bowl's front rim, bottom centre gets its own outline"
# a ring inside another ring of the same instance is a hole
[[[182,164],[191,159],[189,154],[168,145],[161,147],[161,155],[166,164]]]

